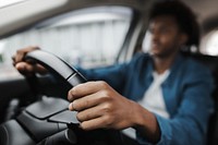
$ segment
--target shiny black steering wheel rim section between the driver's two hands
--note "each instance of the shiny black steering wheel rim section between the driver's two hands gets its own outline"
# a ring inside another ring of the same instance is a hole
[[[50,52],[44,50],[34,50],[27,52],[24,60],[33,60],[41,64],[51,74],[56,75],[62,81],[65,81],[72,87],[86,82],[86,78],[75,68],[71,67],[61,58]]]

